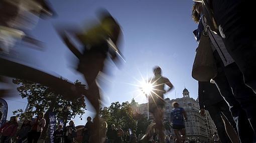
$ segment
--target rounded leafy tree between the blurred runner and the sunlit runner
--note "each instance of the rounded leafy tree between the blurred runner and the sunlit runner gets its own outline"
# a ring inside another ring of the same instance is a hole
[[[118,101],[113,102],[109,107],[101,108],[100,116],[109,126],[115,124],[121,125],[123,130],[136,129],[136,120],[133,118],[133,111],[128,101],[121,104]]]

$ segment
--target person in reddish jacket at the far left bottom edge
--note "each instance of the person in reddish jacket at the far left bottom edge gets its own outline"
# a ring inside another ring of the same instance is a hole
[[[11,116],[10,121],[5,123],[0,128],[1,142],[9,143],[12,142],[12,137],[15,135],[18,128],[17,117]]]

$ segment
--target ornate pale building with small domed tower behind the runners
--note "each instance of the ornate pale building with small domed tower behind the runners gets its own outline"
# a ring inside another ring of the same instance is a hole
[[[171,111],[173,109],[172,103],[176,101],[180,104],[180,107],[185,109],[188,116],[188,119],[185,121],[186,136],[199,139],[202,142],[211,142],[212,135],[216,132],[216,127],[208,111],[205,111],[205,116],[200,115],[198,99],[195,100],[191,98],[186,88],[183,90],[182,94],[182,98],[165,99],[165,119],[170,120]],[[133,99],[131,106],[133,113],[143,114],[150,120],[154,119],[153,114],[148,112],[148,103],[139,104]],[[166,134],[169,133],[175,135],[173,130],[171,130],[171,132],[166,131]]]

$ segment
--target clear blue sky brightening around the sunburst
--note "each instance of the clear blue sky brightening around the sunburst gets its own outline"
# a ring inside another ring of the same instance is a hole
[[[197,27],[191,18],[192,0],[50,0],[57,16],[40,19],[31,34],[45,43],[45,50],[16,47],[20,56],[26,53],[28,65],[43,69],[70,81],[76,79],[85,83],[80,73],[75,71],[71,51],[58,37],[53,25],[57,23],[85,26],[97,20],[95,11],[106,8],[122,28],[120,48],[125,58],[119,68],[108,61],[109,74],[102,81],[103,106],[111,102],[147,102],[134,84],[151,77],[152,68],[162,67],[163,76],[170,79],[174,89],[165,94],[171,99],[182,97],[186,87],[190,96],[197,98],[198,84],[191,76],[197,43],[192,31]],[[29,54],[28,54],[29,53]],[[138,81],[139,80],[139,81]],[[6,98],[9,104],[8,117],[12,111],[25,108],[26,99]],[[92,115],[92,107],[87,103],[83,120],[75,119],[76,124],[84,124]]]

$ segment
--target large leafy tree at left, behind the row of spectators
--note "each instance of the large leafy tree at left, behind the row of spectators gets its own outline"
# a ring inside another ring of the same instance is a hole
[[[72,101],[66,100],[63,95],[56,93],[53,89],[42,84],[22,80],[13,79],[13,83],[19,85],[17,90],[20,92],[22,98],[27,98],[29,107],[28,110],[18,109],[13,111],[20,119],[32,118],[34,114],[40,111],[53,111],[56,113],[58,119],[63,119],[67,122],[68,117],[84,114],[85,102],[84,96],[73,99]],[[80,81],[76,80],[75,85],[84,87]],[[70,108],[67,108],[70,106]],[[35,110],[33,108],[35,107]],[[48,114],[45,114],[46,126],[43,133],[46,132],[49,125]],[[42,133],[42,134],[43,134]],[[44,135],[42,135],[44,136]]]

